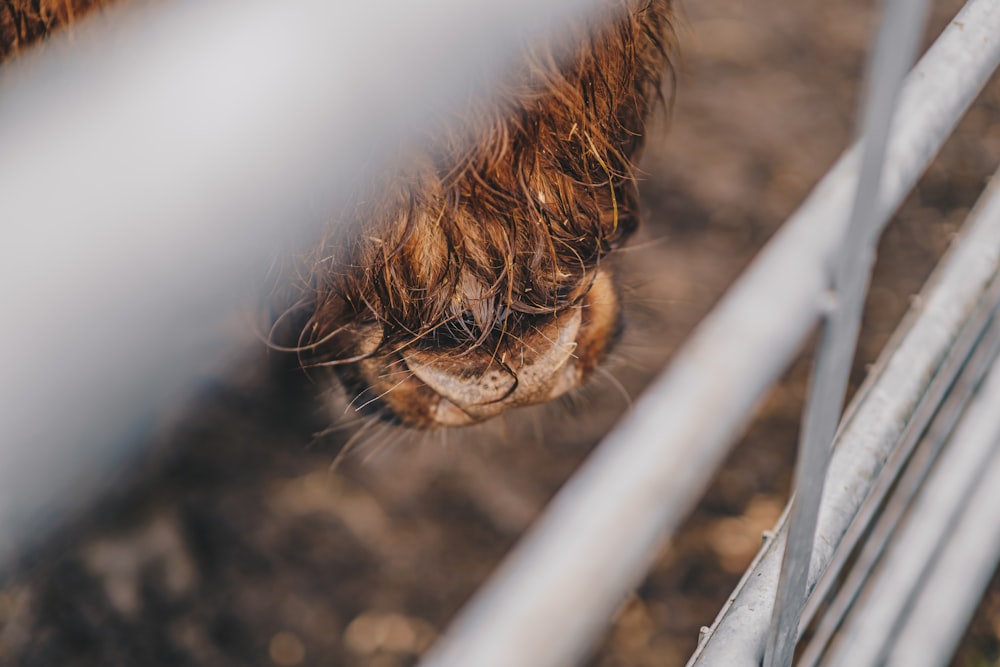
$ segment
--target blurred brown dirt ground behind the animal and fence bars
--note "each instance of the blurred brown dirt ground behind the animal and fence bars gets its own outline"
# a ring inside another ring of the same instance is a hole
[[[329,410],[262,355],[8,575],[0,664],[415,664],[847,145],[872,4],[688,0],[621,255],[629,331],[594,387],[489,428],[358,435],[346,418],[317,439]],[[959,5],[935,3],[931,34]],[[994,77],[884,236],[855,383],[998,163]],[[798,363],[764,402],[587,664],[684,664],[787,499],[807,377]],[[995,584],[955,664],[998,659]]]

